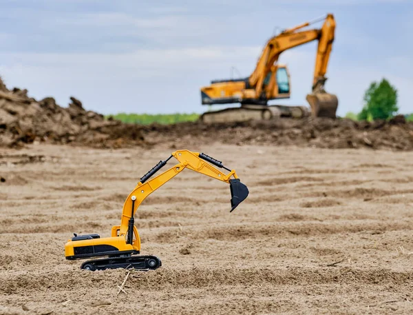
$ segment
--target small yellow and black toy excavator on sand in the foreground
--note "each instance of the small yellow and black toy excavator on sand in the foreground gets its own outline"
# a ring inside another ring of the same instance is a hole
[[[153,174],[164,167],[172,158],[179,163],[169,170],[150,179]],[[203,160],[203,161],[202,161]],[[229,174],[224,174],[207,161],[217,167],[224,168]],[[221,161],[213,159],[207,154],[179,150],[173,152],[165,161],[160,161],[147,174],[140,178],[138,185],[129,194],[124,205],[120,225],[112,227],[112,236],[100,238],[98,234],[76,235],[65,245],[66,259],[85,259],[105,256],[105,258],[86,261],[81,265],[85,270],[105,270],[108,268],[129,268],[137,270],[155,270],[161,266],[161,261],[156,256],[139,256],[140,238],[138,229],[134,225],[134,215],[140,203],[149,194],[160,186],[180,174],[185,168],[229,183],[231,190],[231,211],[248,196],[248,188],[238,179],[235,170],[229,170]],[[233,178],[231,178],[233,177]]]

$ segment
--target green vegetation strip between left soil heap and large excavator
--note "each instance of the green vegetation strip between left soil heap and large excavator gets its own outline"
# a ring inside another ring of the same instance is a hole
[[[119,113],[115,115],[107,115],[106,119],[112,116],[114,119],[123,123],[137,123],[140,125],[149,125],[151,123],[161,123],[169,125],[171,123],[183,123],[185,121],[197,121],[199,114],[126,114]]]

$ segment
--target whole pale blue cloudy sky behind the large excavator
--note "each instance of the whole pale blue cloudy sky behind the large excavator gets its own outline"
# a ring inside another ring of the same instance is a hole
[[[413,0],[1,0],[0,75],[36,99],[66,106],[75,96],[103,114],[200,113],[202,86],[248,77],[277,30],[327,13],[337,23],[326,82],[337,114],[359,112],[383,78],[399,112],[413,112]],[[291,98],[271,103],[307,105],[316,50],[281,55]]]

